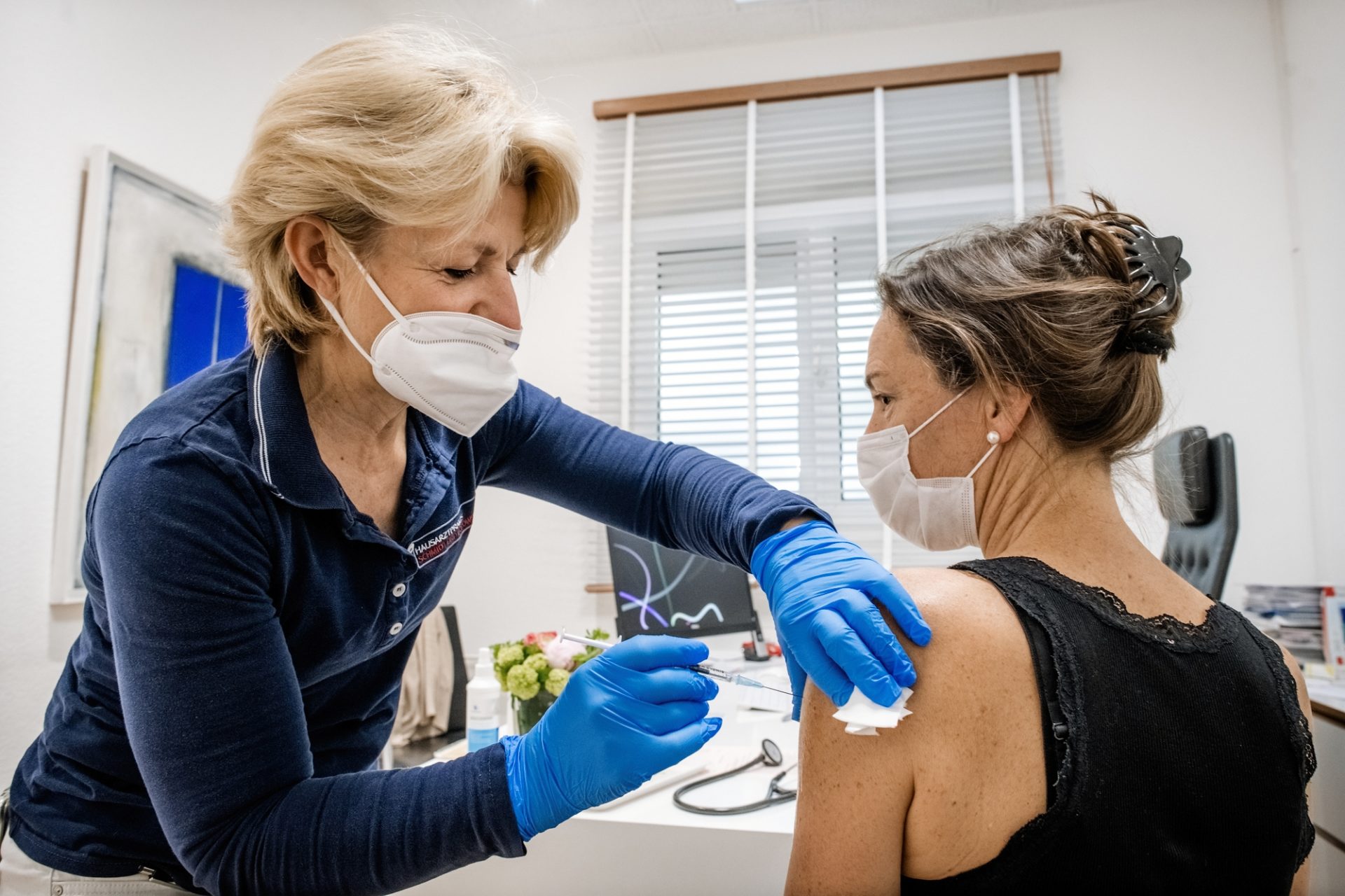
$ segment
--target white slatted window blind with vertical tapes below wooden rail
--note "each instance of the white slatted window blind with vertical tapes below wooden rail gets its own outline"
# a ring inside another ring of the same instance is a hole
[[[1009,75],[600,121],[596,412],[800,492],[893,566],[978,556],[893,537],[859,485],[874,274],[1052,201],[1053,87]]]

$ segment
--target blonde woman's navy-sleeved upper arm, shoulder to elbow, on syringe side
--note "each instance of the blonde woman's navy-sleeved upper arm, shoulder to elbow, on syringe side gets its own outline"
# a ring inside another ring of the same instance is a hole
[[[194,872],[233,819],[312,775],[258,500],[241,473],[163,441],[114,458],[93,504],[126,733]]]

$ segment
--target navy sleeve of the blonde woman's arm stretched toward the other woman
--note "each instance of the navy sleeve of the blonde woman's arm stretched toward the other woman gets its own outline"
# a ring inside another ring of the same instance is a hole
[[[748,568],[756,545],[811,501],[686,445],[655,442],[522,383],[477,434],[483,485],[569,508],[674,548]]]

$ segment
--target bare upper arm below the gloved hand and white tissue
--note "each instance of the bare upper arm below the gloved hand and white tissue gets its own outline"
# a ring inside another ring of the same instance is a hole
[[[799,802],[785,892],[896,893],[902,832],[915,795],[901,728],[845,733],[831,700],[810,684],[799,735]]]

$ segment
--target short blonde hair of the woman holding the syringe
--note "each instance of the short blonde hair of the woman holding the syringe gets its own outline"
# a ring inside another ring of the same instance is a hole
[[[252,278],[252,344],[303,351],[331,326],[285,251],[295,218],[323,218],[367,254],[387,226],[465,232],[502,184],[518,184],[541,267],[578,215],[578,169],[569,126],[443,31],[379,28],[323,50],[266,103],[227,200],[225,244]]]

